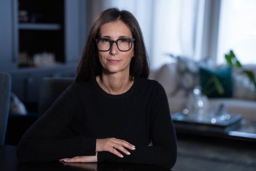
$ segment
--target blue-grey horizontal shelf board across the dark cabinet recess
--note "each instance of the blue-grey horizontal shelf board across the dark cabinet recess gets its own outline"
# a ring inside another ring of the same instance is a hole
[[[60,24],[45,23],[19,23],[18,28],[21,30],[60,30]]]

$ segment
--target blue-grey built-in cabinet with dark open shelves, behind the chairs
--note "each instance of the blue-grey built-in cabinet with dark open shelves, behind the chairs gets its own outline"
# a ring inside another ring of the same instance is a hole
[[[75,77],[87,35],[87,0],[0,0],[0,72],[28,115],[9,114],[6,143],[17,145],[37,119],[43,77]],[[54,65],[19,65],[19,53],[54,53]]]

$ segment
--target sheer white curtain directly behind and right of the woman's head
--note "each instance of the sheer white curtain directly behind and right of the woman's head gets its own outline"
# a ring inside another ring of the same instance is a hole
[[[129,10],[138,20],[151,69],[173,61],[166,54],[200,59],[196,48],[202,44],[200,32],[203,0],[103,0],[103,9]]]

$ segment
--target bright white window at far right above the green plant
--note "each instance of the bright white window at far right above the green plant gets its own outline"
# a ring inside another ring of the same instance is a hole
[[[217,63],[232,49],[242,64],[256,64],[255,21],[255,0],[222,0]]]

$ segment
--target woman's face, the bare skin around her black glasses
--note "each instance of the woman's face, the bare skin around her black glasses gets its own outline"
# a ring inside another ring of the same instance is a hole
[[[119,38],[133,38],[130,28],[122,21],[105,23],[99,29],[100,38],[117,40]],[[110,73],[129,73],[130,62],[134,56],[134,45],[129,51],[122,52],[113,43],[112,48],[107,52],[98,51],[99,62],[103,70]]]

